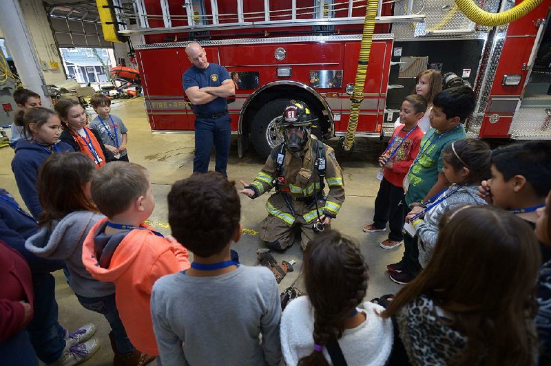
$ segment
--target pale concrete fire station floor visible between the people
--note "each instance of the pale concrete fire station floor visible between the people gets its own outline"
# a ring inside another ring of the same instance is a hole
[[[92,111],[90,109],[90,111]],[[114,100],[112,113],[120,116],[128,127],[128,154],[131,162],[142,164],[149,169],[156,206],[150,224],[163,234],[169,234],[167,224],[167,194],[171,184],[191,175],[194,159],[193,133],[160,133],[152,134],[145,115],[143,98],[134,100]],[[336,147],[337,140],[329,141]],[[373,207],[379,181],[377,174],[377,156],[384,146],[378,139],[357,138],[355,149],[351,153],[342,153],[337,149],[337,160],[344,172],[346,201],[342,206],[332,227],[344,235],[353,237],[360,245],[362,253],[369,265],[369,281],[366,301],[382,294],[395,293],[400,286],[388,279],[386,264],[395,263],[402,257],[403,245],[394,250],[380,248],[380,241],[386,239],[387,232],[364,233],[362,227],[371,224]],[[16,200],[23,205],[10,162],[14,151],[9,147],[0,149],[0,187],[8,190]],[[228,175],[230,180],[245,180],[251,182],[262,167],[258,155],[249,149],[243,158],[238,158],[237,138],[232,136],[229,152]],[[214,169],[214,153],[211,156],[211,169]],[[239,186],[238,186],[239,187]],[[264,194],[256,200],[250,200],[240,195],[242,204],[242,239],[233,244],[238,251],[242,264],[258,265],[256,249],[262,247],[258,239],[260,221],[267,215],[264,204],[269,194]],[[302,268],[302,250],[300,242],[295,242],[283,253],[273,253],[278,261],[294,259],[295,271],[290,272],[280,283],[280,291],[284,290],[300,275]],[[111,365],[112,349],[107,333],[110,327],[100,314],[85,310],[77,301],[72,290],[67,286],[62,271],[55,273],[56,299],[59,303],[59,321],[69,330],[74,330],[84,323],[92,322],[97,326],[96,337],[101,340],[101,348],[86,365]],[[296,284],[304,290],[301,280]],[[225,316],[225,315],[221,315]],[[152,363],[154,365],[155,363]]]

